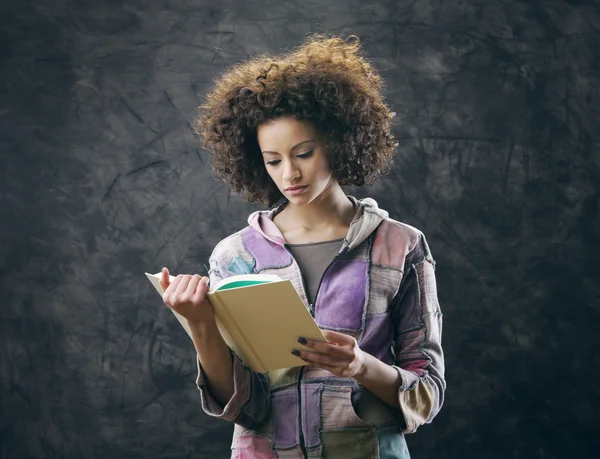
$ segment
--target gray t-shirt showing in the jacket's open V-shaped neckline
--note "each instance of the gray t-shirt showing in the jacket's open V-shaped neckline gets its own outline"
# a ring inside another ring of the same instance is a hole
[[[338,254],[344,239],[311,242],[308,244],[288,244],[290,252],[300,266],[300,272],[308,290],[308,301],[314,303],[321,278],[333,258]]]

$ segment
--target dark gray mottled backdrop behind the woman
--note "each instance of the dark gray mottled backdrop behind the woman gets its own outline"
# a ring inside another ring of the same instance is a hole
[[[438,262],[447,402],[413,458],[598,457],[598,2],[3,0],[2,459],[227,456],[143,272],[204,272],[259,208],[190,134],[212,79],[344,30],[405,116],[354,194]]]

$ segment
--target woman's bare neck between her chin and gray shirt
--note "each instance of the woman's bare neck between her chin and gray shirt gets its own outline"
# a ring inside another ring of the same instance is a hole
[[[349,226],[355,215],[352,202],[337,183],[309,204],[298,206],[288,203],[285,212],[289,223],[310,231],[318,231],[332,225]]]

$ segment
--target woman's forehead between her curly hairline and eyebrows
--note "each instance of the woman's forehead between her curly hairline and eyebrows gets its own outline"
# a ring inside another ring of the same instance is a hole
[[[258,126],[258,143],[263,150],[288,150],[305,140],[318,140],[319,134],[312,123],[285,117]]]

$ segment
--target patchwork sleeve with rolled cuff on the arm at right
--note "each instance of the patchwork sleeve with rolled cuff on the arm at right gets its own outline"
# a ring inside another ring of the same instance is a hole
[[[435,262],[423,235],[409,252],[394,303],[394,368],[402,383],[398,401],[404,433],[430,423],[444,403],[442,312],[437,298]]]

